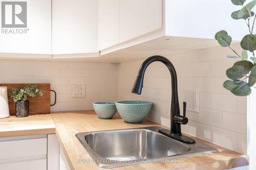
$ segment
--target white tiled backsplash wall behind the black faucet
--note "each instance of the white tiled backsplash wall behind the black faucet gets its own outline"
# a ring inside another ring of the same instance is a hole
[[[234,45],[238,48],[238,45]],[[238,48],[239,53],[240,49]],[[227,80],[226,68],[234,60],[227,48],[216,47],[195,52],[166,56],[176,67],[179,94],[187,89],[200,90],[199,113],[187,111],[189,122],[182,131],[246,154],[246,98],[234,96],[222,87]],[[153,102],[148,119],[170,126],[170,74],[162,63],[150,65],[145,73],[141,95],[131,89],[143,60],[118,65],[118,100],[147,100]],[[183,99],[179,97],[180,105]],[[188,103],[189,105],[189,103]],[[181,110],[182,107],[181,107]]]

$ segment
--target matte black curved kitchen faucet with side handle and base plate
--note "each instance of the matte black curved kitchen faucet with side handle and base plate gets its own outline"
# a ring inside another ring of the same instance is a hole
[[[132,93],[141,94],[143,87],[143,79],[146,68],[151,63],[159,61],[167,66],[170,71],[170,76],[172,78],[172,101],[170,107],[170,131],[167,130],[159,130],[160,133],[175,138],[176,140],[180,140],[186,143],[195,143],[194,139],[188,138],[187,136],[182,135],[181,133],[181,124],[185,125],[188,122],[187,117],[185,117],[186,107],[184,107],[183,116],[180,115],[180,106],[179,106],[179,98],[178,98],[178,85],[177,85],[177,73],[174,65],[167,58],[163,56],[152,56],[147,58],[140,66],[138,71],[137,78],[134,82]],[[186,106],[186,103],[183,104]]]

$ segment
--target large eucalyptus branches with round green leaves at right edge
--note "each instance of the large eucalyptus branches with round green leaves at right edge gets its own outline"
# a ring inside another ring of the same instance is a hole
[[[223,47],[229,47],[234,55],[227,55],[228,58],[239,58],[231,68],[226,70],[226,75],[230,80],[224,82],[223,86],[234,95],[247,96],[251,93],[251,88],[256,88],[256,34],[253,32],[256,15],[252,11],[256,4],[253,0],[244,5],[246,0],[231,0],[234,5],[241,6],[238,11],[231,14],[233,19],[244,19],[248,27],[249,34],[245,35],[240,42],[243,48],[242,54],[238,54],[231,46],[232,38],[225,30],[219,31],[215,39]]]

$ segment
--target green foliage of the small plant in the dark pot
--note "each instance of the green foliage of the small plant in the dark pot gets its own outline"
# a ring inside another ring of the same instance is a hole
[[[41,97],[44,94],[41,89],[35,84],[23,84],[12,89],[9,93],[10,99],[14,102],[25,102],[28,97],[35,98]]]

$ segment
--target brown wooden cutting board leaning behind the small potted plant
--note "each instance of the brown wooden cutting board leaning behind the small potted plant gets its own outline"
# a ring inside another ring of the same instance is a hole
[[[20,86],[23,84],[0,84],[0,86],[6,86],[8,94],[11,92],[11,90],[17,86]],[[28,98],[29,100],[29,114],[38,114],[38,113],[50,113],[50,84],[36,84],[44,93],[44,95],[41,98]],[[8,96],[9,99],[9,96]],[[9,110],[10,115],[15,115],[15,104],[14,102],[11,102],[10,99],[9,102]]]

